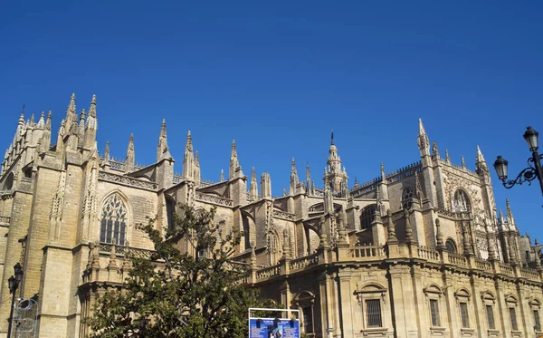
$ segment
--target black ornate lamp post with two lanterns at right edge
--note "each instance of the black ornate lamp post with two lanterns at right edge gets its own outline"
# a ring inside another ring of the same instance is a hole
[[[528,127],[524,133],[524,140],[528,143],[529,151],[532,152],[532,157],[528,159],[528,168],[520,171],[519,176],[517,176],[516,179],[507,179],[507,166],[509,162],[507,159],[498,156],[498,159],[494,162],[494,169],[496,169],[496,172],[498,173],[498,178],[503,182],[503,187],[513,188],[514,185],[522,184],[524,182],[531,184],[532,180],[538,179],[541,194],[543,194],[543,169],[541,168],[541,159],[543,159],[543,155],[539,155],[538,153],[538,136],[538,131],[533,130],[531,127]]]

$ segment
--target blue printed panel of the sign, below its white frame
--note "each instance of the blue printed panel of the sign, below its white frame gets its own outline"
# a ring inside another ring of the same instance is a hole
[[[249,338],[300,338],[300,321],[284,318],[251,318]]]

